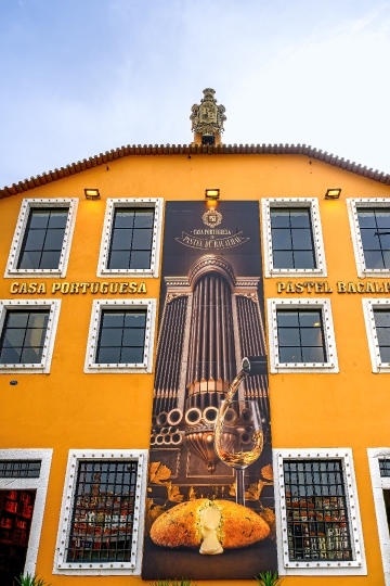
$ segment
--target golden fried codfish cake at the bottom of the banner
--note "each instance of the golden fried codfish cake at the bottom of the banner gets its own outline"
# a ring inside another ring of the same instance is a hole
[[[252,509],[229,500],[197,498],[181,502],[158,517],[151,528],[153,542],[162,547],[199,547],[202,512],[207,507],[221,513],[217,537],[223,548],[247,547],[270,535],[268,523]]]

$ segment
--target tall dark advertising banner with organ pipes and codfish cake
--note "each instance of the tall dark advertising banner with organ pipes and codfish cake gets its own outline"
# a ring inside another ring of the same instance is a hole
[[[258,202],[168,202],[144,579],[276,571],[265,354]]]

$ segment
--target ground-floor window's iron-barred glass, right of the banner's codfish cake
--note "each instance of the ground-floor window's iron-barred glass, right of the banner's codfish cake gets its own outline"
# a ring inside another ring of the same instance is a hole
[[[352,560],[341,460],[283,462],[289,559]]]

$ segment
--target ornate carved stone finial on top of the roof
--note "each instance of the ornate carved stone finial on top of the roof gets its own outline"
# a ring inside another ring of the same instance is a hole
[[[202,144],[216,144],[221,142],[223,123],[226,119],[225,107],[217,105],[214,98],[216,90],[206,88],[204,98],[199,104],[194,104],[191,109],[192,130],[194,141]]]

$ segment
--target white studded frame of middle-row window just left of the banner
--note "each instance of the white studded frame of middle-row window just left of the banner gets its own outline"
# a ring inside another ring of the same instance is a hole
[[[144,360],[142,364],[99,364],[95,361],[103,309],[146,309]],[[88,335],[84,372],[150,373],[153,367],[156,300],[94,300]]]

